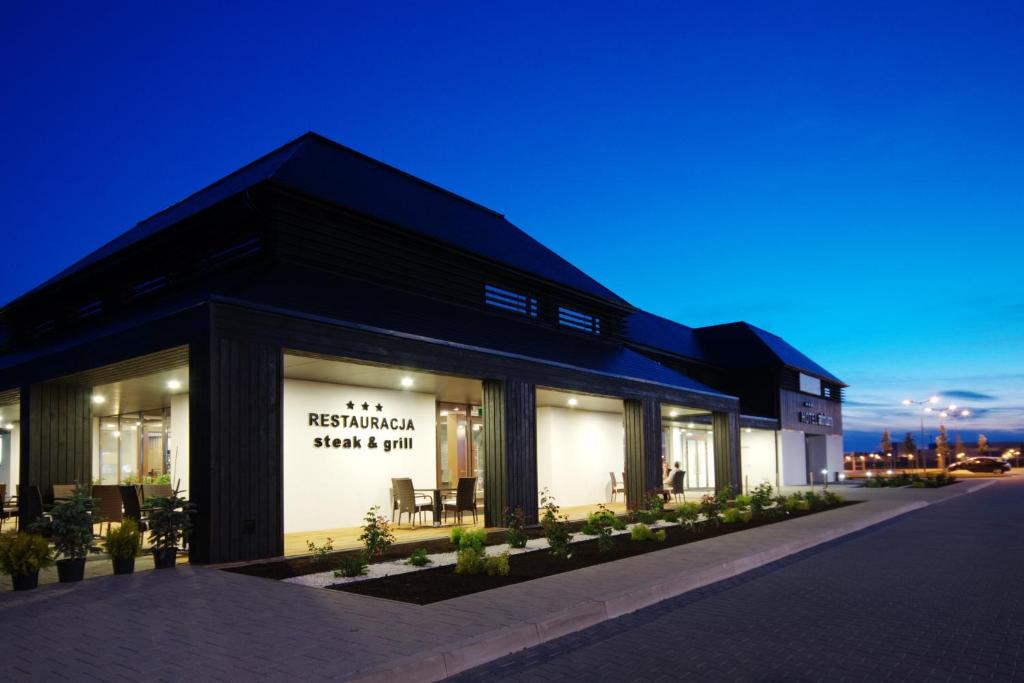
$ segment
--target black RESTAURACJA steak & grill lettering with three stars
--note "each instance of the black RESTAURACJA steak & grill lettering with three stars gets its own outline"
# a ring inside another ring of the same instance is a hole
[[[336,436],[330,432],[313,437],[314,449],[380,449],[384,453],[404,451],[413,447],[413,437],[400,432],[416,431],[412,418],[390,417],[384,413],[382,403],[348,401],[347,413],[308,413],[306,426],[322,429],[358,430]],[[373,409],[373,410],[371,410]],[[380,415],[378,415],[380,414]],[[366,433],[371,432],[371,433]],[[390,438],[391,436],[396,438]]]

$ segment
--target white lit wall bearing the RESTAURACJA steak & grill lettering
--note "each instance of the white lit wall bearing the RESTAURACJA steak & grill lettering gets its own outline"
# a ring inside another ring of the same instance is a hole
[[[392,477],[412,477],[418,488],[437,478],[434,396],[305,380],[285,380],[285,532],[361,524],[374,505],[390,519]],[[353,401],[354,410],[347,408]],[[362,411],[364,402],[370,404]],[[377,403],[382,411],[376,411]],[[309,425],[309,414],[412,420],[413,429],[391,431]],[[315,438],[358,438],[359,447],[326,449]],[[369,446],[373,437],[376,447]],[[385,452],[383,440],[412,438],[412,447]],[[605,475],[607,476],[607,475]],[[427,521],[425,515],[425,523]],[[404,518],[402,519],[404,523]]]

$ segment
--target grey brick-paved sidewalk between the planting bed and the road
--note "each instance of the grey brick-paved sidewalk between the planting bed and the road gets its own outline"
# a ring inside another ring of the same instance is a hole
[[[0,594],[17,678],[436,680],[991,482],[864,503],[420,606],[182,566]]]

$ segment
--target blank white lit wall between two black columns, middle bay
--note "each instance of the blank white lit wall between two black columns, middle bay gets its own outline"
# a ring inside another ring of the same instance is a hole
[[[611,477],[622,478],[626,428],[613,413],[537,409],[537,480],[561,506],[611,500]]]

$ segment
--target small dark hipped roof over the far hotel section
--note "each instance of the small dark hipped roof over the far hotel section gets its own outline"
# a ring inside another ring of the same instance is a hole
[[[728,323],[694,330],[706,349],[719,365],[755,368],[783,365],[846,386],[827,370],[801,353],[788,342],[750,323]]]

